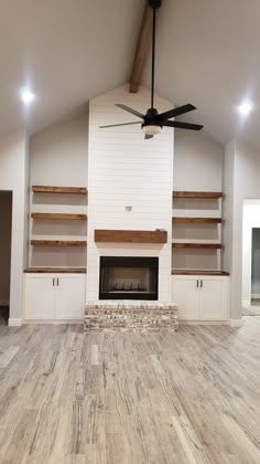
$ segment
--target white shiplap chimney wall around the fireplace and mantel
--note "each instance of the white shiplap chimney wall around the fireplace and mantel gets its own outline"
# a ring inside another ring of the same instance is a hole
[[[164,128],[144,140],[139,125],[100,129],[100,125],[137,118],[115,106],[127,104],[145,112],[150,93],[137,95],[123,86],[94,98],[89,107],[87,299],[98,299],[101,255],[159,256],[159,299],[171,299],[173,130]],[[159,110],[172,107],[156,96]],[[132,211],[127,212],[126,205]],[[101,244],[94,242],[95,229],[165,229],[169,240],[160,244]]]

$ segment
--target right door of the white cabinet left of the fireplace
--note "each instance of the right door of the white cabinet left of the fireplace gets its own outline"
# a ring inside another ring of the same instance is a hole
[[[57,319],[83,319],[85,283],[83,275],[58,275],[56,281]]]

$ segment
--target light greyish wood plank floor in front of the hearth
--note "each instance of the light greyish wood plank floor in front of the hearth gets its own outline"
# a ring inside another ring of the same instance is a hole
[[[260,318],[84,335],[0,327],[1,464],[260,463]]]

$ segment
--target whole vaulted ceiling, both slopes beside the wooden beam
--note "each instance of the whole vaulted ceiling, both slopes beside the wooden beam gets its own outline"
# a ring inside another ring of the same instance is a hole
[[[143,4],[1,0],[0,133],[35,133],[128,82]],[[163,0],[158,17],[158,92],[196,105],[191,118],[217,140],[260,147],[260,1]],[[150,86],[150,60],[142,83]],[[37,95],[28,112],[19,99],[25,84]],[[254,109],[242,122],[236,105],[248,97]]]

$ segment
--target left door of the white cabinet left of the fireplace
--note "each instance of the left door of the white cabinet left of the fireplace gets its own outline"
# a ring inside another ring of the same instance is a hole
[[[26,277],[25,319],[55,318],[55,281],[52,276]]]

